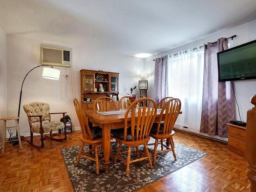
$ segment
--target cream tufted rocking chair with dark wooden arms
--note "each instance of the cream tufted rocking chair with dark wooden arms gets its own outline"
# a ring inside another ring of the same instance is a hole
[[[63,122],[51,121],[51,115],[62,114],[65,116],[66,112],[61,113],[50,113],[50,106],[44,102],[32,102],[23,106],[24,111],[28,116],[30,126],[30,144],[33,144],[33,133],[39,133],[41,135],[41,147],[45,147],[44,140],[47,138],[53,138],[59,134],[52,134],[53,131],[58,131],[64,128],[64,139],[56,140],[67,140],[66,124]],[[44,135],[50,133],[50,137]],[[36,145],[34,145],[36,146]]]

